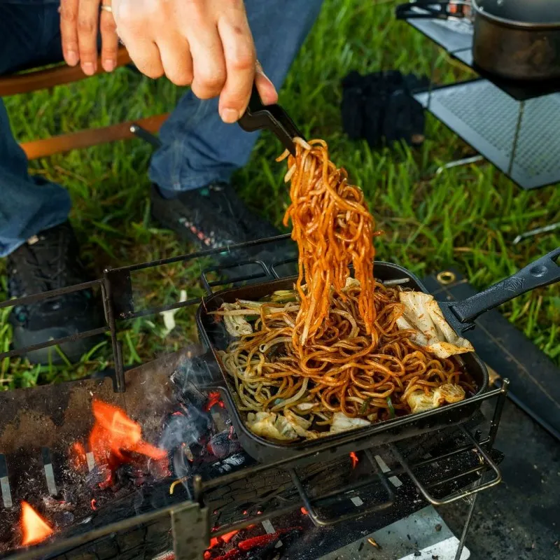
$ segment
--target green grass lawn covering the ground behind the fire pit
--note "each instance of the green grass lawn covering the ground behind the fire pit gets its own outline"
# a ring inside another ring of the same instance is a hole
[[[435,176],[435,169],[469,152],[453,133],[428,116],[426,142],[411,151],[371,151],[342,133],[340,80],[351,70],[399,69],[429,73],[437,83],[470,77],[430,41],[392,17],[394,3],[325,0],[321,16],[290,71],[280,102],[308,137],[328,141],[332,158],[362,186],[379,228],[381,259],[398,262],[416,274],[453,265],[477,288],[560,245],[558,232],[512,245],[519,232],[560,221],[560,190],[551,186],[521,191],[492,165],[470,165]],[[10,97],[6,105],[20,141],[169,111],[181,90],[167,80],[148,80],[127,69],[52,92]],[[249,165],[235,176],[248,204],[279,224],[287,202],[284,166],[274,162],[279,144],[264,134]],[[83,258],[99,277],[108,266],[143,262],[188,251],[171,232],[150,219],[146,171],[151,148],[142,141],[108,144],[31,163],[32,172],[62,183],[73,198],[71,219],[83,242]],[[262,207],[262,201],[265,201]],[[181,289],[202,293],[198,269],[153,269],[135,276],[142,304],[172,302]],[[5,279],[3,279],[5,291]],[[4,294],[5,295],[5,294]],[[558,286],[519,297],[501,310],[540,349],[560,364],[560,290]],[[10,328],[0,314],[0,345],[7,349]],[[134,365],[162,351],[179,349],[195,337],[193,310],[176,315],[167,337],[162,317],[133,321],[120,332],[125,362]],[[4,360],[0,386],[13,388],[69,379],[110,365],[109,339],[74,367],[30,366]]]

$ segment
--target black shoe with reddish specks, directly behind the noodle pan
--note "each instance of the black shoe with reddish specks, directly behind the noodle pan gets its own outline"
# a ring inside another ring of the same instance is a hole
[[[253,214],[239,199],[235,189],[225,183],[189,190],[173,199],[162,197],[154,185],[151,200],[153,217],[198,248],[225,247],[280,235],[274,226]],[[276,241],[224,253],[219,260],[230,264],[259,259],[272,265],[296,256],[295,244]]]

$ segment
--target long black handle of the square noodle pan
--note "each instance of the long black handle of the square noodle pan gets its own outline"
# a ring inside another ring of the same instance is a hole
[[[455,323],[451,326],[456,330],[470,330],[474,327],[475,318],[484,312],[535,288],[560,281],[560,263],[556,262],[559,257],[560,247],[466,300],[447,303],[445,307],[452,311],[456,319],[451,321]]]

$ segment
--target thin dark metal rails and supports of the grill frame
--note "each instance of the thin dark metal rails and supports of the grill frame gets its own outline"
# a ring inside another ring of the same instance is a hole
[[[116,393],[123,393],[125,391],[125,377],[124,377],[124,363],[123,363],[123,353],[120,349],[120,343],[118,342],[117,335],[118,335],[118,325],[117,321],[120,319],[130,319],[139,316],[146,316],[151,314],[157,314],[161,311],[169,310],[169,309],[179,309],[181,307],[187,307],[188,305],[193,304],[200,304],[200,298],[194,298],[192,300],[188,300],[187,302],[177,302],[175,304],[170,304],[167,306],[162,307],[154,307],[151,309],[140,309],[137,310],[134,307],[134,301],[132,297],[132,281],[131,281],[131,272],[135,272],[141,269],[147,269],[151,267],[158,267],[162,265],[172,264],[174,262],[188,262],[193,259],[197,258],[206,258],[211,255],[215,255],[218,253],[223,253],[223,251],[235,251],[238,248],[251,248],[263,244],[270,244],[277,241],[283,241],[288,239],[289,235],[282,235],[278,237],[271,237],[267,239],[260,239],[256,241],[250,241],[245,244],[238,244],[234,246],[229,246],[226,248],[216,248],[211,249],[209,251],[199,251],[197,253],[190,253],[187,255],[180,255],[174,258],[167,258],[162,260],[156,260],[152,262],[144,262],[139,263],[136,265],[130,265],[126,267],[120,267],[116,269],[106,269],[104,271],[103,277],[101,279],[94,280],[92,282],[83,283],[76,286],[69,286],[66,288],[61,288],[59,290],[52,290],[51,292],[41,293],[30,295],[27,297],[22,297],[16,300],[9,300],[6,302],[0,303],[0,308],[3,307],[12,307],[21,304],[29,304],[31,302],[43,301],[48,300],[50,297],[54,297],[55,295],[63,295],[65,293],[71,293],[77,290],[85,290],[90,289],[94,286],[99,286],[102,293],[102,303],[104,306],[105,311],[105,318],[107,326],[103,329],[103,332],[109,332],[111,335],[112,341],[112,349],[113,349],[113,360],[115,364],[115,370],[111,377],[113,377],[113,389]],[[216,281],[211,279],[211,274],[215,274],[216,272],[223,272],[226,268],[233,269],[235,267],[240,267],[242,265],[253,265],[258,272],[252,272],[251,274],[246,274],[245,276],[240,276],[239,278],[235,279],[237,282],[243,281],[252,281],[255,279],[261,279],[262,281],[265,280],[272,280],[278,279],[281,276],[279,272],[279,267],[283,265],[290,265],[295,260],[286,260],[282,262],[274,263],[273,265],[267,265],[262,261],[254,260],[254,261],[245,261],[245,262],[238,262],[235,265],[230,265],[228,267],[210,267],[209,269],[205,269],[202,272],[201,281],[203,286],[206,288],[207,293],[212,295],[213,288],[217,286],[224,286],[225,284],[231,283],[232,280],[228,281]],[[209,276],[210,274],[210,276]],[[97,335],[97,330],[95,332],[87,331],[81,332],[77,335],[71,337],[71,339],[83,339],[87,337],[91,337]],[[36,344],[32,347],[32,349],[38,348],[45,348],[49,346],[55,346],[56,344],[60,344],[64,342],[62,339],[58,340],[51,340],[44,342],[42,344]],[[19,349],[17,351],[11,350],[7,352],[0,353],[0,359],[3,358],[10,358],[12,356],[20,356],[23,353],[29,351],[31,347]],[[461,538],[461,545],[460,549],[458,550],[459,556],[461,555],[462,545],[464,544],[465,537],[468,533],[468,527],[470,526],[470,521],[472,520],[472,510],[475,506],[475,497],[477,493],[480,491],[484,491],[486,489],[491,488],[491,486],[495,486],[501,480],[500,471],[498,466],[496,465],[497,462],[500,460],[499,451],[493,449],[493,444],[496,438],[496,433],[498,431],[500,418],[503,412],[503,406],[505,404],[506,395],[508,389],[508,381],[504,380],[502,386],[497,389],[493,389],[491,391],[487,391],[482,395],[477,395],[476,397],[472,398],[470,402],[475,401],[490,401],[495,400],[495,406],[493,409],[493,417],[490,423],[490,427],[486,437],[482,437],[482,434],[479,431],[475,431],[471,433],[468,428],[461,428],[461,433],[463,437],[463,444],[458,445],[455,449],[449,450],[447,453],[442,454],[440,456],[430,457],[423,461],[416,461],[411,463],[407,461],[407,458],[403,456],[402,452],[399,451],[394,444],[386,445],[386,449],[391,451],[396,458],[398,459],[398,467],[388,470],[386,472],[379,471],[376,472],[375,475],[379,482],[388,488],[388,480],[391,477],[395,476],[407,476],[409,479],[412,480],[412,483],[419,491],[421,496],[424,500],[428,503],[433,503],[434,505],[440,505],[443,503],[452,503],[456,500],[463,500],[469,499],[471,502],[470,512],[466,517],[465,526],[463,528],[463,536]],[[25,391],[22,390],[22,391]],[[451,405],[453,406],[453,405]],[[351,439],[351,435],[348,436]],[[337,445],[335,442],[332,445]],[[305,458],[305,456],[312,457],[315,451],[304,451],[299,455],[299,458]],[[457,472],[450,477],[444,477],[440,473],[439,479],[432,479],[430,483],[426,483],[423,481],[421,475],[418,474],[418,471],[421,468],[425,468],[427,465],[436,465],[438,461],[444,461],[447,458],[456,458],[458,464],[461,465],[461,454],[464,453],[474,453],[477,457],[477,465],[475,467],[467,468],[466,470],[459,470],[461,472]],[[103,528],[98,528],[93,531],[89,531],[82,535],[78,535],[72,538],[67,538],[60,542],[52,542],[49,544],[38,545],[36,547],[31,547],[27,549],[25,552],[18,552],[15,554],[10,554],[7,556],[13,560],[31,560],[35,559],[39,554],[43,557],[52,557],[55,554],[61,554],[69,549],[73,549],[74,547],[80,547],[85,545],[88,542],[95,542],[97,539],[105,538],[113,533],[118,533],[119,531],[125,531],[126,529],[135,528],[141,526],[142,524],[155,522],[161,520],[165,517],[169,518],[170,526],[173,528],[174,533],[174,542],[175,542],[175,558],[176,560],[193,560],[199,559],[200,556],[195,556],[194,553],[199,551],[202,547],[207,546],[210,538],[210,528],[209,528],[209,509],[204,503],[204,496],[206,493],[211,491],[212,489],[218,488],[218,486],[232,484],[241,479],[251,479],[255,475],[261,475],[266,472],[270,472],[274,468],[279,467],[290,467],[289,463],[293,463],[294,458],[288,457],[283,458],[281,461],[275,461],[274,463],[267,463],[267,464],[260,464],[254,465],[237,472],[231,472],[228,475],[222,475],[221,477],[217,477],[210,480],[202,480],[200,476],[196,476],[193,479],[193,490],[194,490],[194,499],[193,500],[185,500],[181,503],[169,505],[169,507],[163,507],[160,510],[155,510],[153,512],[148,512],[145,514],[138,515],[137,517],[131,517],[128,519],[123,519],[122,521],[118,521],[116,523],[104,526]],[[494,477],[486,482],[483,481],[484,475],[487,471],[492,470],[494,472]],[[295,489],[297,489],[300,495],[300,501],[295,505],[286,506],[283,510],[278,509],[274,510],[273,512],[268,512],[263,515],[259,516],[250,516],[244,518],[242,521],[239,521],[234,524],[229,524],[226,526],[222,526],[218,529],[218,531],[212,532],[212,536],[219,536],[225,533],[228,533],[233,530],[239,530],[241,528],[246,528],[247,526],[255,523],[260,523],[265,519],[270,519],[276,517],[278,515],[293,511],[300,507],[301,505],[305,505],[310,513],[311,519],[318,525],[330,524],[339,519],[322,519],[318,513],[315,511],[315,508],[318,504],[321,503],[323,497],[318,496],[316,498],[312,498],[309,493],[304,489],[304,486],[301,480],[297,477],[297,472],[295,468],[291,467],[288,470],[290,477],[294,483]],[[472,483],[472,477],[475,477],[475,483]],[[465,479],[471,480],[468,482],[469,486],[464,488]],[[460,482],[463,481],[463,482]],[[463,488],[460,491],[453,491],[449,496],[438,497],[434,491],[431,489],[441,485],[441,484],[454,484],[459,485],[459,487]],[[348,491],[347,488],[340,489],[337,496],[341,496],[344,491]],[[332,497],[332,496],[331,496]],[[391,496],[389,496],[391,498]],[[341,498],[342,499],[342,498]],[[389,500],[388,500],[389,501]],[[374,509],[377,509],[379,504],[376,504]],[[387,506],[388,507],[388,506]],[[358,514],[352,517],[358,517],[368,510],[362,510],[358,512]],[[182,533],[182,536],[181,536]],[[186,552],[186,548],[181,547],[180,540],[183,540],[184,535],[189,535],[190,538],[193,539],[192,542],[196,542],[197,545],[192,547],[190,552]],[[201,544],[202,543],[202,544]]]

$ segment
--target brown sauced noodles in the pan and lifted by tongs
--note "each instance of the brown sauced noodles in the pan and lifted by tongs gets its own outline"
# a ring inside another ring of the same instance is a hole
[[[452,345],[430,346],[414,327],[403,294],[415,293],[374,281],[363,193],[330,162],[324,141],[295,142],[286,175],[286,221],[300,251],[295,290],[215,312],[236,337],[221,359],[249,428],[283,440],[319,437],[462,400],[472,386],[456,358],[433,353],[449,356]],[[428,307],[419,317],[439,313]],[[468,351],[454,342],[461,348],[451,353]]]

